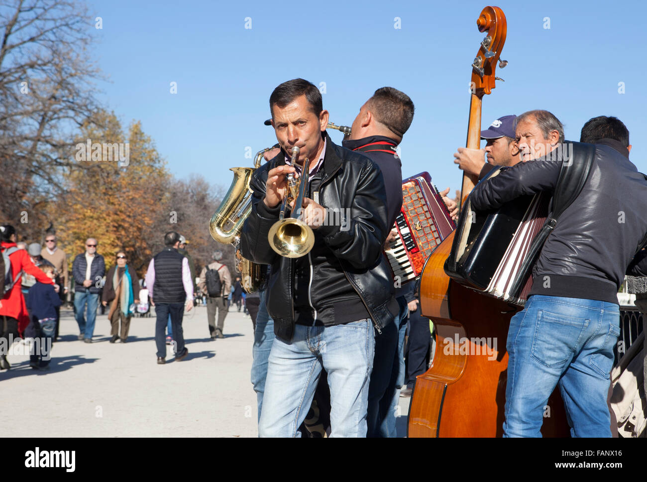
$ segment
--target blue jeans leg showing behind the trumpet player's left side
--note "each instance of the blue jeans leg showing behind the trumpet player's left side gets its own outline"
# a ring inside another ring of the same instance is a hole
[[[252,347],[252,384],[256,391],[258,404],[258,420],[261,420],[263,406],[263,392],[265,391],[265,378],[267,377],[267,360],[270,357],[272,342],[274,342],[274,320],[270,318],[265,305],[265,291],[258,293],[260,303],[256,315],[256,328],[254,329],[254,346]]]

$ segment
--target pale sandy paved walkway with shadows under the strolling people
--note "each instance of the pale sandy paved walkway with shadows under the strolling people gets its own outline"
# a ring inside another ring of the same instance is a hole
[[[133,318],[126,344],[109,343],[107,316],[98,315],[94,343],[86,344],[76,339],[72,311],[61,312],[50,371],[33,370],[27,353],[8,355],[11,369],[0,371],[2,398],[20,414],[3,435],[256,437],[252,320],[234,309],[225,338],[211,340],[198,306],[182,326],[189,355],[175,362],[168,345],[167,364],[157,365],[154,315]],[[404,435],[409,399],[400,400]]]

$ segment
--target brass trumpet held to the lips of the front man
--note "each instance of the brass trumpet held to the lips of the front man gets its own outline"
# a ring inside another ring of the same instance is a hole
[[[294,168],[296,158],[299,155],[299,148],[292,148],[291,166]],[[305,197],[305,188],[308,186],[309,160],[303,161],[302,175],[298,181],[294,174],[287,175],[287,186],[281,203],[279,220],[272,225],[267,234],[267,240],[272,249],[284,257],[302,257],[310,252],[314,245],[314,233],[310,226],[298,219],[300,208]],[[294,207],[290,217],[285,217],[285,210],[288,204],[294,201]]]

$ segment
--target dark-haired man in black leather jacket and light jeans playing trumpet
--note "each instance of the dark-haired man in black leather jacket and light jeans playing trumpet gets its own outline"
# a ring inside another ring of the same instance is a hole
[[[276,340],[259,435],[300,436],[298,427],[325,369],[331,437],[363,437],[373,326],[381,331],[397,312],[381,254],[390,228],[384,178],[370,159],[333,144],[325,133],[328,112],[312,83],[295,79],[276,87],[270,112],[281,152],[252,177],[252,214],[241,234],[243,256],[271,265],[266,303]],[[294,146],[300,152],[292,167]],[[290,259],[274,252],[268,234],[279,217],[286,177],[300,179],[305,159],[305,199],[294,209],[301,208],[302,221],[313,229],[314,245],[305,256]]]

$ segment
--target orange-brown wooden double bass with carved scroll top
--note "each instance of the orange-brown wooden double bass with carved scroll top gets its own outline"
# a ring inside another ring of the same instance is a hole
[[[479,149],[483,96],[492,93],[498,79],[494,72],[507,32],[503,10],[486,6],[477,27],[487,36],[472,63],[466,142],[471,149]],[[501,67],[505,67],[503,62]],[[462,203],[477,181],[463,174]],[[436,349],[430,369],[415,382],[408,437],[503,435],[508,363],[505,345],[510,318],[520,309],[463,287],[445,274],[443,266],[452,250],[454,234],[455,230],[435,248],[422,270],[421,313],[433,320]],[[564,403],[557,391],[545,407],[542,433],[569,435]]]

